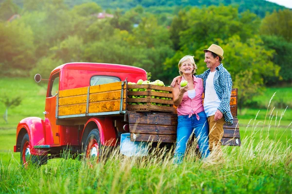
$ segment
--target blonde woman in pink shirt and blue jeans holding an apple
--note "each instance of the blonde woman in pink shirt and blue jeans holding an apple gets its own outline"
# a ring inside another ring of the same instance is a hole
[[[194,57],[184,56],[179,62],[179,72],[182,82],[186,80],[186,86],[176,85],[173,88],[173,101],[178,111],[177,141],[175,149],[175,163],[182,163],[187,141],[192,133],[195,134],[201,157],[209,156],[209,126],[202,104],[203,80],[193,74],[197,66]],[[181,82],[181,83],[182,83]]]

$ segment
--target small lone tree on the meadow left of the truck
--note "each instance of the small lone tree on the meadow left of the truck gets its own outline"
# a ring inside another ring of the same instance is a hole
[[[21,96],[11,97],[11,95],[8,94],[2,94],[0,96],[0,102],[5,105],[5,113],[3,114],[3,119],[5,120],[6,124],[8,124],[8,109],[19,106],[21,101]]]

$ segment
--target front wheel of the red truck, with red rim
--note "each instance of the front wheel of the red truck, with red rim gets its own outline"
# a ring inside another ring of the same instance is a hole
[[[35,164],[37,166],[41,166],[43,164],[46,164],[48,161],[48,156],[35,156],[31,155],[31,148],[32,145],[29,141],[29,136],[26,133],[21,141],[21,147],[20,147],[20,162],[23,167],[27,168],[30,163]]]

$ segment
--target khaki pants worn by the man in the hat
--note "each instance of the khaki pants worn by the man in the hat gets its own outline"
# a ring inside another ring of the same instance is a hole
[[[223,137],[223,124],[225,123],[224,117],[219,119],[217,122],[214,121],[215,115],[208,117],[209,123],[209,149],[212,152],[222,155],[221,140]],[[214,154],[214,153],[213,153]]]

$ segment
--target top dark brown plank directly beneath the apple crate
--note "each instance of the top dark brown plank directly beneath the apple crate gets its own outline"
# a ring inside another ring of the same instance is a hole
[[[129,123],[177,125],[177,115],[170,113],[138,113],[128,111]]]

